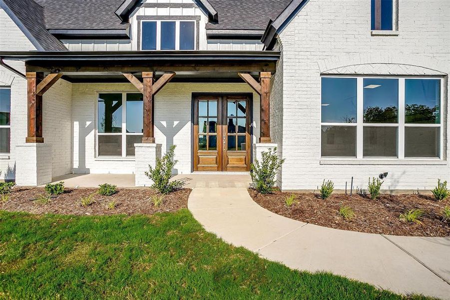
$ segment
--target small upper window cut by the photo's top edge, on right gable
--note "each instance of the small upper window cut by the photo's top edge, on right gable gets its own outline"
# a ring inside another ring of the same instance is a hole
[[[394,30],[394,0],[371,0],[371,29]]]

